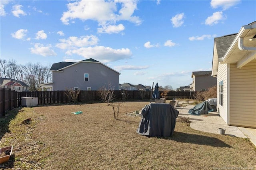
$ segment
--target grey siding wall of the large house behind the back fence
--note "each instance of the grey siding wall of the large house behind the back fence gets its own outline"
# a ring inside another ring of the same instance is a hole
[[[84,81],[84,73],[89,74],[89,81]],[[53,89],[66,90],[79,87],[80,90],[98,90],[102,86],[108,86],[108,82],[114,86],[114,90],[119,89],[119,73],[95,62],[81,62],[63,70],[63,72],[53,71]]]

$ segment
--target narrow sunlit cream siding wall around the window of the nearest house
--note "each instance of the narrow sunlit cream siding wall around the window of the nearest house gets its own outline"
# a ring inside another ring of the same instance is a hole
[[[227,73],[228,73],[228,64],[219,64],[218,66],[218,76],[217,76],[217,112],[220,114],[222,119],[228,124],[228,79],[227,79]],[[219,98],[219,82],[223,80],[223,106],[219,104],[220,98]]]

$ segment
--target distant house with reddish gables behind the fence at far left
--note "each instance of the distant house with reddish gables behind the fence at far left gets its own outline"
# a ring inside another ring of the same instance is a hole
[[[6,89],[20,91],[29,91],[29,86],[22,82],[15,79],[8,79],[8,78],[0,78],[0,86]]]

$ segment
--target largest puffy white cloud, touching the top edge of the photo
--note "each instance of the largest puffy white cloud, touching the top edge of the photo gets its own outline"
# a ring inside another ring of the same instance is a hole
[[[63,12],[60,20],[69,24],[70,20],[95,20],[102,28],[114,25],[116,22],[126,20],[136,25],[141,24],[138,16],[133,16],[138,1],[77,1],[67,5],[68,10]],[[120,8],[120,10],[118,9]],[[121,25],[120,25],[121,26]],[[122,29],[122,28],[119,28]],[[113,32],[114,33],[114,32]]]

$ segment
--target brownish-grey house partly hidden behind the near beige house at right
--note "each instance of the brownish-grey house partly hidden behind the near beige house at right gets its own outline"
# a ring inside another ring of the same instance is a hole
[[[193,71],[191,77],[192,91],[206,91],[216,85],[216,77],[212,77],[212,71]]]

